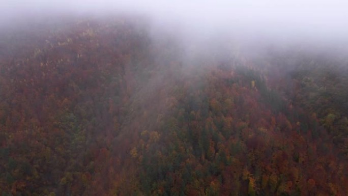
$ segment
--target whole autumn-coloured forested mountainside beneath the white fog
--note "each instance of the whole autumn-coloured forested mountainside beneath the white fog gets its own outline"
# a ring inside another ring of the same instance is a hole
[[[2,32],[2,195],[348,194],[344,59],[187,61],[150,32],[128,17]]]

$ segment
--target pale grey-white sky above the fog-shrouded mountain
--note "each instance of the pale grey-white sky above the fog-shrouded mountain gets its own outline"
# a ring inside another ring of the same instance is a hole
[[[192,34],[230,31],[269,39],[348,40],[348,1],[341,0],[0,0],[0,23],[52,13],[146,13],[160,25]]]

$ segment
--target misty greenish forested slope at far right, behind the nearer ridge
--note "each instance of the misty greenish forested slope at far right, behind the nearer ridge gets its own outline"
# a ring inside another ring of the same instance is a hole
[[[272,75],[272,88],[294,106],[317,116],[339,148],[339,156],[347,160],[348,59],[342,51],[274,53],[267,62],[276,66],[266,72]]]

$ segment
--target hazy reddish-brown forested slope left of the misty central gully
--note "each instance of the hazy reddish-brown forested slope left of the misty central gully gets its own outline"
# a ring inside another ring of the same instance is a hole
[[[140,26],[123,18],[59,25],[3,42],[4,194],[82,194],[120,134],[137,80],[149,74],[133,61],[149,65]]]

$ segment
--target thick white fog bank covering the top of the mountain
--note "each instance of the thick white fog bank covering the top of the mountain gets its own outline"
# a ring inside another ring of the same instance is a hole
[[[183,43],[228,38],[249,48],[296,44],[345,48],[347,7],[339,0],[5,0],[0,3],[0,26],[5,30],[60,17],[129,14],[148,18],[154,31],[181,36]]]

